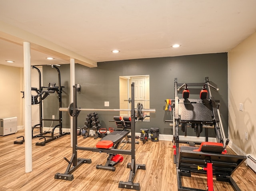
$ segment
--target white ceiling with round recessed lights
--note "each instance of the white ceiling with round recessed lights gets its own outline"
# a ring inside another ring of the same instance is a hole
[[[50,42],[55,52],[32,50],[32,65],[69,63],[65,51],[95,62],[172,57],[228,52],[256,32],[256,0],[0,0],[0,21],[3,65],[23,67],[22,45],[4,24]]]

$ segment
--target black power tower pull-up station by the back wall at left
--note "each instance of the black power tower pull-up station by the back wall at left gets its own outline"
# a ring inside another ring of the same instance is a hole
[[[55,87],[54,91],[56,91],[56,93],[58,94],[58,104],[59,104],[59,108],[62,107],[62,88],[64,86],[61,86],[61,81],[60,81],[60,69],[58,69],[58,67],[56,67],[55,65],[51,65],[52,68],[55,68],[58,72],[58,87]],[[43,92],[43,88],[48,88],[48,87],[42,87],[41,86],[41,72],[40,70],[36,67],[36,66],[32,66],[33,69],[36,69],[39,73],[39,92],[42,93]],[[42,117],[42,94],[39,95],[39,115],[40,115],[40,124],[36,124],[32,127],[32,138],[36,138],[39,137],[41,139],[44,139],[43,142],[36,142],[36,146],[45,146],[46,143],[51,142],[53,140],[56,140],[57,138],[60,138],[64,135],[68,135],[70,134],[70,132],[62,132],[62,111],[59,110],[59,119],[44,119]],[[59,124],[55,125],[54,128],[52,129],[52,131],[46,131],[43,132],[43,121],[58,121]],[[38,135],[33,136],[33,131],[34,128],[36,128],[37,126],[40,127],[40,133]],[[54,130],[59,127],[59,133],[58,135],[54,135]],[[46,134],[51,134],[51,135],[46,135]]]

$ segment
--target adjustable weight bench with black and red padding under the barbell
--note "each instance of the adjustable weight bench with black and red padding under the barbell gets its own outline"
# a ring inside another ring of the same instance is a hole
[[[123,138],[126,138],[126,143],[128,142],[128,134],[130,133],[127,128],[131,127],[131,119],[130,117],[124,116],[123,120],[120,116],[114,116],[114,121],[116,122],[116,126],[118,128],[122,128],[122,130],[115,130],[114,132],[108,134],[102,140],[100,140],[96,144],[96,148],[98,149],[117,149],[120,144],[123,141]],[[120,149],[121,150],[121,149]],[[108,159],[105,165],[96,165],[96,169],[105,169],[105,170],[111,170],[115,171],[116,165],[119,162],[122,162],[123,156],[120,154],[113,154],[113,153],[108,153]]]

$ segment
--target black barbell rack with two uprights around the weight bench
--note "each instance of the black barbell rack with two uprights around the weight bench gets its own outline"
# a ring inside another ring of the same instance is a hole
[[[84,158],[78,158],[77,156],[77,150],[89,150],[92,152],[104,152],[104,153],[112,153],[112,154],[124,154],[124,155],[131,155],[131,163],[127,164],[127,167],[130,168],[130,174],[129,179],[127,182],[120,181],[118,187],[119,188],[126,188],[126,189],[135,189],[140,190],[140,183],[134,183],[134,179],[137,173],[138,169],[146,169],[146,165],[143,164],[136,164],[135,159],[135,108],[134,108],[134,83],[131,85],[131,94],[132,94],[132,107],[131,109],[131,150],[119,150],[119,149],[101,149],[101,148],[87,148],[87,147],[79,147],[77,143],[77,118],[80,110],[78,110],[77,107],[77,91],[79,91],[80,88],[78,88],[78,85],[73,86],[73,96],[74,96],[74,102],[72,106],[72,114],[73,116],[73,124],[72,124],[72,157],[70,161],[66,158],[64,158],[68,162],[68,167],[65,171],[65,173],[56,173],[54,178],[55,179],[63,179],[63,180],[69,180],[72,181],[74,179],[74,176],[72,173],[78,169],[83,163],[91,163],[91,159],[84,159]],[[68,111],[70,112],[70,110]]]

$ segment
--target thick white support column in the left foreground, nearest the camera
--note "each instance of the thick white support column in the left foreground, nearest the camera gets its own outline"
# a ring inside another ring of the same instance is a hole
[[[24,126],[25,126],[25,173],[32,171],[32,130],[31,130],[31,61],[30,43],[23,42],[24,60]]]

